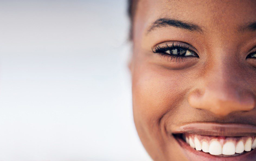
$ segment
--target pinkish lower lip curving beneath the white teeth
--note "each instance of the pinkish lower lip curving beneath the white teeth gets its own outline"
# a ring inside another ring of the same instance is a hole
[[[190,160],[256,160],[256,150],[252,150],[250,152],[246,152],[244,154],[238,155],[238,156],[232,156],[232,157],[219,157],[210,155],[209,153],[205,153],[202,151],[197,151],[193,148],[191,148],[186,142],[183,141],[183,139],[179,137],[175,137],[175,139],[178,141],[180,146],[184,149],[185,154],[187,154],[188,158]]]

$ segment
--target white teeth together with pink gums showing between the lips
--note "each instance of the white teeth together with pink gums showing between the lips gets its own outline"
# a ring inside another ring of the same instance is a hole
[[[194,134],[182,136],[192,148],[220,157],[238,156],[256,148],[255,136],[223,137]]]

